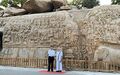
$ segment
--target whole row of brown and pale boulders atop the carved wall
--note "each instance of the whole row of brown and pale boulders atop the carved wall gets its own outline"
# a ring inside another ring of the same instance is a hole
[[[11,2],[10,2],[11,4]],[[67,0],[27,0],[22,7],[8,5],[8,8],[0,11],[0,17],[24,15],[28,13],[45,13],[57,10],[70,10]]]

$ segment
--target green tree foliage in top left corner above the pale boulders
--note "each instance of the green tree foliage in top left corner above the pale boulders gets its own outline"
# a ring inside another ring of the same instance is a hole
[[[22,6],[24,4],[24,2],[26,2],[26,0],[13,0],[12,4],[14,6],[17,6],[18,4],[20,4]],[[2,0],[1,5],[7,7],[8,3],[9,3],[9,0]]]

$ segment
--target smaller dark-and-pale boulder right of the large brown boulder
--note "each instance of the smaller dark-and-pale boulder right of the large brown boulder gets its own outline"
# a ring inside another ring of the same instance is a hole
[[[54,9],[59,9],[61,6],[67,5],[67,0],[51,0]]]

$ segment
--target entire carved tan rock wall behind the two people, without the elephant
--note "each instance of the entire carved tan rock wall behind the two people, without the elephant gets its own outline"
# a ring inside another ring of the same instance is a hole
[[[0,28],[4,27],[3,46],[6,50],[18,48],[19,56],[26,51],[24,57],[41,57],[41,48],[46,55],[51,44],[55,48],[62,46],[65,56],[75,59],[86,56],[93,59],[100,46],[111,48],[112,54],[120,50],[119,8],[117,5],[100,6],[90,10],[0,18]]]

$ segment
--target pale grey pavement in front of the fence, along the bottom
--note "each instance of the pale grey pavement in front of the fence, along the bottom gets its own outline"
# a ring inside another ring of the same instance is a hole
[[[45,71],[45,72],[44,72]],[[120,75],[120,73],[67,71],[64,73],[46,72],[45,69],[0,66],[0,75]]]

